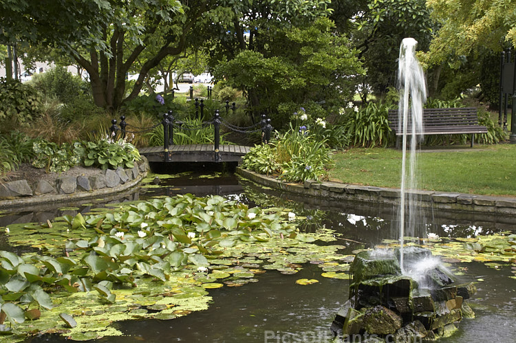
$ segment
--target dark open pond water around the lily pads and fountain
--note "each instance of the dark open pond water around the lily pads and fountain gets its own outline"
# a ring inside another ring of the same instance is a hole
[[[217,172],[211,175],[182,173],[175,177],[156,175],[150,187],[140,188],[125,200],[151,199],[195,193],[197,196],[221,195],[249,203],[250,206],[286,208],[297,217],[302,232],[330,230],[337,238],[333,242],[316,242],[319,245],[341,245],[339,252],[351,255],[354,251],[389,245],[396,241],[396,209],[369,203],[334,203],[316,199],[299,199],[279,194],[274,190],[259,188],[235,175]],[[82,212],[96,205],[81,206]],[[6,221],[45,221],[76,213],[74,208],[61,210],[45,208],[36,212],[10,213],[1,217]],[[463,319],[458,331],[440,342],[513,342],[516,335],[516,281],[515,264],[510,261],[465,262],[467,247],[477,236],[508,234],[514,230],[511,219],[481,216],[462,216],[456,213],[427,212],[427,223],[412,241],[443,253],[444,261],[455,272],[458,282],[477,282],[477,294],[469,300],[476,314],[474,319]],[[427,234],[437,234],[440,239],[427,240]],[[409,239],[410,241],[410,239]],[[6,237],[0,239],[1,248],[8,246]],[[455,243],[460,244],[458,250]],[[453,245],[455,244],[455,245]],[[29,247],[17,247],[18,253]],[[450,252],[447,253],[446,250]],[[464,256],[462,256],[464,254]],[[474,254],[475,255],[475,254]],[[265,262],[265,261],[264,261]],[[514,262],[514,261],[513,261]],[[266,263],[262,264],[265,265]],[[173,320],[131,320],[114,324],[125,334],[122,337],[105,337],[94,342],[330,342],[333,338],[330,324],[336,311],[349,294],[349,278],[321,276],[323,270],[316,263],[302,263],[296,274],[281,274],[266,270],[256,274],[257,282],[241,287],[209,289],[212,300],[208,309],[196,311]],[[331,269],[329,269],[331,270]],[[298,285],[297,280],[315,279],[312,285]],[[42,335],[25,342],[60,342],[61,335]]]

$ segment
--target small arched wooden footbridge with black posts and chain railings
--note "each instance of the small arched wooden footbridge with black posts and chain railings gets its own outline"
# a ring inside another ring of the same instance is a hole
[[[130,126],[125,122],[125,117],[120,117],[120,129],[122,137],[126,133],[136,133],[149,131],[163,125],[163,146],[151,146],[140,148],[140,155],[147,157],[149,162],[241,162],[242,157],[249,152],[251,146],[241,146],[233,144],[220,144],[220,126],[223,125],[227,131],[235,131],[239,133],[252,133],[261,131],[262,142],[270,141],[270,133],[272,125],[270,119],[266,119],[262,115],[261,121],[248,127],[234,126],[226,123],[219,115],[219,111],[215,111],[213,120],[203,122],[200,126],[189,126],[180,120],[175,120],[173,113],[164,113],[162,122],[152,126],[151,128],[136,128],[140,131],[126,131],[126,127]],[[118,126],[116,120],[112,120],[111,133],[116,135]],[[176,145],[173,144],[174,131],[198,130],[213,126],[213,144],[189,144]]]

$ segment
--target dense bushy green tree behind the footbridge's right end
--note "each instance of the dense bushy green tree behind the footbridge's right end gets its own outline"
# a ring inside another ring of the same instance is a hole
[[[329,3],[226,1],[210,13],[214,24],[197,32],[215,78],[244,91],[252,115],[277,113],[286,102],[352,98],[349,76],[361,69],[349,39],[327,19]]]

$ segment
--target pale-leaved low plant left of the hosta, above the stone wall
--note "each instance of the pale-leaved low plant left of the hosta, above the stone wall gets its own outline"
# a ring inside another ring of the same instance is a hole
[[[37,140],[33,143],[32,148],[35,154],[32,166],[45,168],[47,173],[65,172],[80,164],[85,154],[84,147],[80,142],[63,143],[58,146],[53,142]]]

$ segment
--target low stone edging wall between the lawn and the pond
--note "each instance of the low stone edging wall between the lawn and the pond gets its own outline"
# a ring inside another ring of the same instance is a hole
[[[400,203],[400,190],[371,186],[357,186],[338,182],[305,181],[304,184],[292,184],[274,177],[261,175],[250,170],[237,168],[237,174],[262,186],[292,192],[308,197],[364,201],[367,203]],[[501,216],[516,216],[516,199],[510,197],[487,197],[462,193],[447,193],[418,190],[413,192],[418,197],[422,208],[436,210],[486,213]]]

